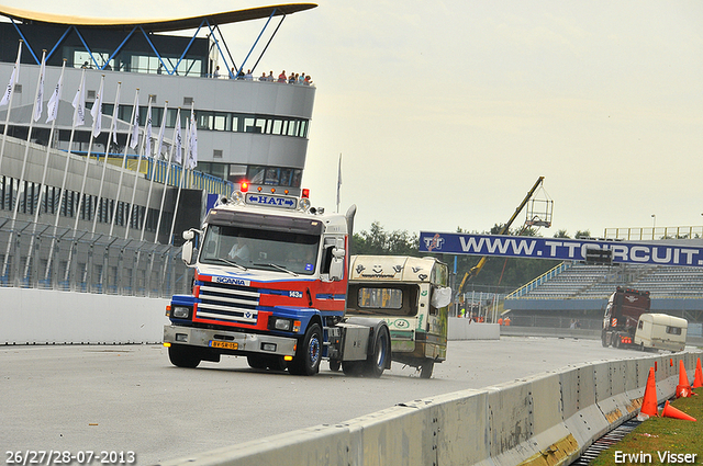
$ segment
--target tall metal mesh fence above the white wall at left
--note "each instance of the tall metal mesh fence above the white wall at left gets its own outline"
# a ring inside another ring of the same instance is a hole
[[[170,297],[189,293],[180,247],[0,218],[0,286]]]

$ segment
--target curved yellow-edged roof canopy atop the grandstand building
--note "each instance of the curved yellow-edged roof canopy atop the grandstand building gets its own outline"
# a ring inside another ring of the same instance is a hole
[[[271,15],[279,16],[299,11],[305,11],[317,7],[315,3],[290,3],[258,7],[246,10],[228,11],[224,13],[203,14],[200,16],[165,19],[165,20],[137,20],[137,19],[102,19],[70,16],[63,14],[46,14],[33,11],[19,10],[0,5],[0,14],[23,23],[44,23],[55,25],[74,25],[78,27],[94,27],[103,30],[122,30],[126,27],[142,26],[150,32],[172,32],[198,29],[203,20],[215,24],[237,23],[241,21],[258,20]]]

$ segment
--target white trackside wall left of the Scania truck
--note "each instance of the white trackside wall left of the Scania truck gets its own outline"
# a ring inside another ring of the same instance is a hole
[[[0,288],[0,344],[156,343],[168,299]]]

